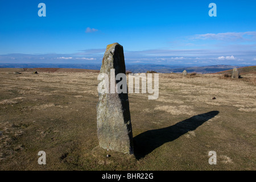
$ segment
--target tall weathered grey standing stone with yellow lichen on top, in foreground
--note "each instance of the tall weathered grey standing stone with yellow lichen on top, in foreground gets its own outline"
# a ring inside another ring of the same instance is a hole
[[[118,43],[107,46],[100,73],[106,73],[110,78],[110,69],[115,69],[115,76],[118,73],[125,74],[123,47]],[[116,85],[117,81],[114,82]],[[127,93],[99,93],[97,134],[100,147],[133,154],[133,133]]]

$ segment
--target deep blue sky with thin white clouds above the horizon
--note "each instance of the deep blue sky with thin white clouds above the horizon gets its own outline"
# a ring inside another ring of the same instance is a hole
[[[38,4],[46,4],[46,17]],[[217,17],[210,17],[209,3]],[[1,1],[0,63],[256,65],[256,1]]]

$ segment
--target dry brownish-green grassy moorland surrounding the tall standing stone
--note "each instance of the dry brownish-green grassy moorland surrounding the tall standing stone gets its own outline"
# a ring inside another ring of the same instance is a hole
[[[158,100],[129,94],[134,157],[98,147],[98,73],[38,73],[0,70],[1,170],[256,169],[254,74],[159,74]]]

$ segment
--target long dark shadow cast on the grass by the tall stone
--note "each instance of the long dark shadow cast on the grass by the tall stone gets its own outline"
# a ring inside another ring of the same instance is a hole
[[[134,155],[136,159],[144,158],[147,154],[162,146],[166,142],[171,142],[188,131],[196,130],[204,122],[215,117],[219,111],[195,115],[175,125],[163,129],[149,130],[133,138]]]

